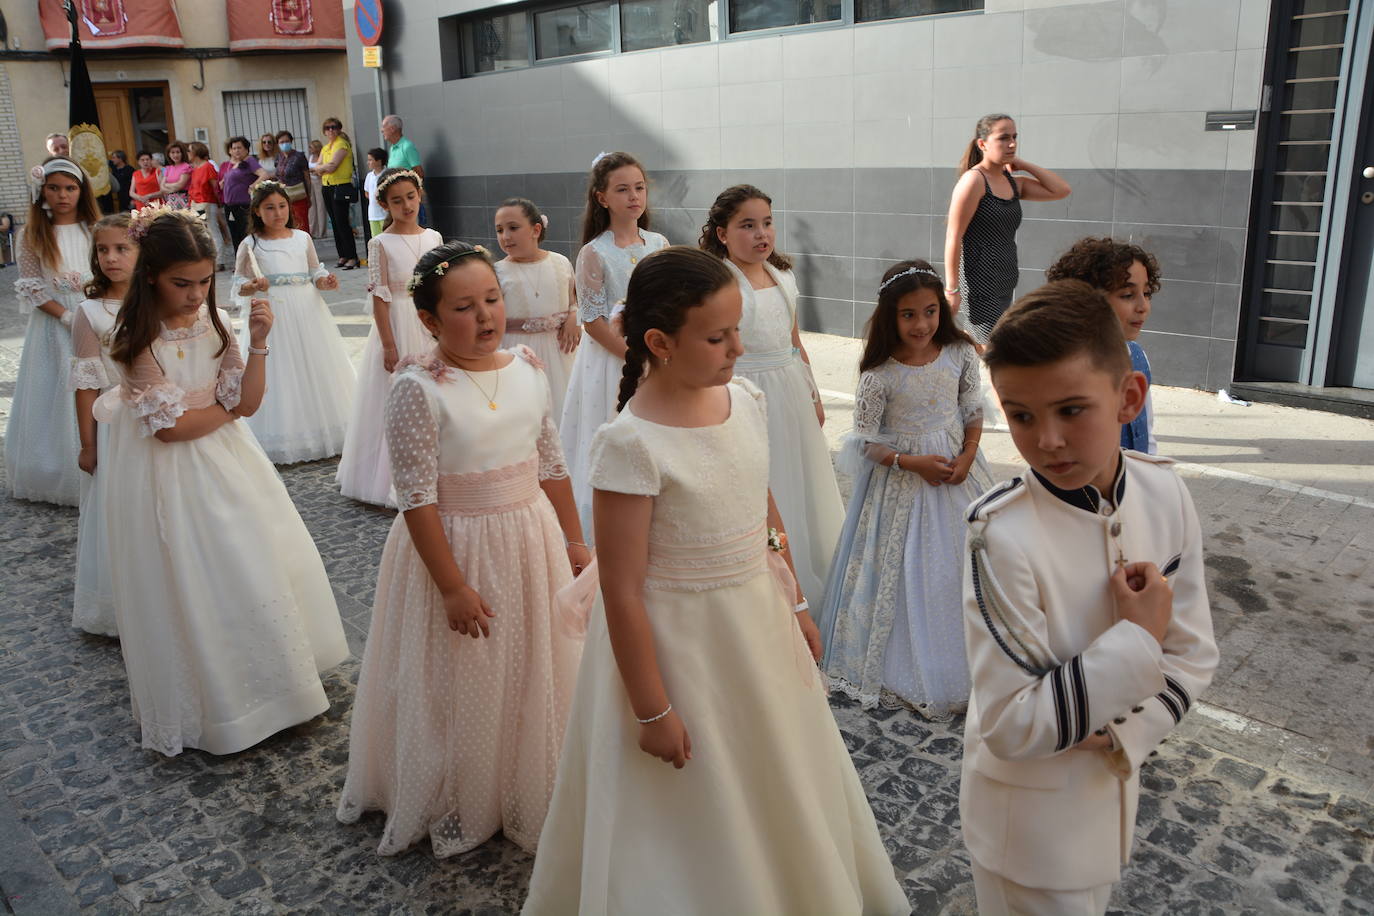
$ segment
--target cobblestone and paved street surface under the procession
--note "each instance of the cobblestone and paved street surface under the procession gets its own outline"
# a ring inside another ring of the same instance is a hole
[[[4,413],[22,335],[7,275]],[[342,275],[330,297],[354,350],[367,332],[360,275]],[[834,435],[846,405],[827,404]],[[991,437],[989,456],[1010,457]],[[334,467],[282,477],[360,652],[392,514],[339,497]],[[1223,663],[1206,703],[1145,768],[1135,856],[1113,912],[1374,915],[1374,650],[1358,637],[1374,619],[1374,508],[1186,477]],[[0,887],[14,912],[518,911],[530,860],[500,838],[453,860],[437,861],[427,845],[382,858],[381,817],[335,821],[356,659],[327,678],[328,714],[243,754],[140,750],[118,643],[69,625],[76,512],[7,497],[0,507]],[[833,706],[915,912],[971,913],[962,722]]]

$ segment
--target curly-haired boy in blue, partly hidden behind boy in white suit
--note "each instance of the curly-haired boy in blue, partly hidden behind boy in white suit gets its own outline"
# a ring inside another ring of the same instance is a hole
[[[1068,251],[1059,255],[1048,271],[1047,280],[1083,280],[1106,294],[1107,304],[1121,321],[1127,350],[1131,353],[1131,368],[1145,375],[1153,385],[1150,358],[1145,354],[1136,338],[1150,317],[1150,299],[1160,291],[1160,262],[1139,244],[1116,239],[1079,239]],[[1149,391],[1145,409],[1129,423],[1121,426],[1121,448],[1157,455],[1154,439],[1154,404]]]

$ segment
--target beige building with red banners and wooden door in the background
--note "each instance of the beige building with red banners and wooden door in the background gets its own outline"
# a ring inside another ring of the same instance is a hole
[[[40,15],[43,5],[54,5]],[[348,59],[338,0],[82,0],[82,45],[106,148],[162,152],[201,140],[217,161],[243,135],[286,129],[297,148],[346,114]],[[27,210],[27,166],[67,129],[66,23],[56,0],[5,4],[0,49],[0,207]],[[89,7],[89,8],[87,8]],[[280,14],[291,10],[297,19]],[[110,18],[113,27],[100,15]],[[44,30],[47,23],[48,29]],[[92,34],[92,27],[96,34]],[[122,30],[121,30],[122,29]],[[8,92],[3,92],[8,81]]]

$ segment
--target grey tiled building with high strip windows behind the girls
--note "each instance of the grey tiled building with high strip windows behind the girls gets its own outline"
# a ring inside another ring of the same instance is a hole
[[[756,184],[797,260],[802,327],[845,335],[893,261],[940,265],[959,155],[978,117],[1006,111],[1021,155],[1073,185],[1024,207],[1022,290],[1081,236],[1131,239],[1164,272],[1143,339],[1157,382],[1353,385],[1374,363],[1369,264],[1349,257],[1374,181],[1326,176],[1338,147],[1369,143],[1370,5],[393,0],[382,107],[423,157],[437,227],[474,242],[525,195],[573,254],[603,150],[646,163],[676,243],[695,243],[721,188]],[[352,126],[374,136],[352,29],[349,62]]]

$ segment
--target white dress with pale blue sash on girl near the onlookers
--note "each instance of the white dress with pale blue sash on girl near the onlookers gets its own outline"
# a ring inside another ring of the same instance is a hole
[[[267,394],[247,423],[273,464],[315,461],[344,450],[356,375],[334,316],[315,288],[328,275],[315,242],[301,229],[291,229],[287,239],[250,235],[234,261],[240,352],[249,346],[250,301],[262,297],[272,304]],[[267,293],[238,295],[243,283],[258,277],[268,279]]]

